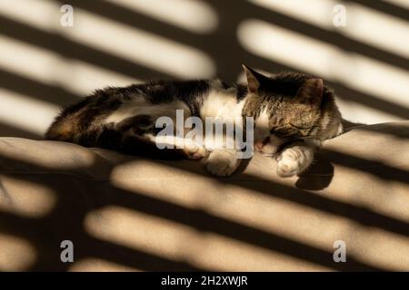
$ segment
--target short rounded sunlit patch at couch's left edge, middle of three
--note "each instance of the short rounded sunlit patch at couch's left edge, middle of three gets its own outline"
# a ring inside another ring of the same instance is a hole
[[[27,218],[44,217],[55,208],[53,190],[25,179],[0,177],[0,210]]]

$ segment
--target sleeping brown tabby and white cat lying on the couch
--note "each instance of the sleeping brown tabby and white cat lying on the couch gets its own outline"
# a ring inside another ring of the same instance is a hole
[[[324,140],[343,131],[334,92],[323,80],[303,73],[264,75],[243,65],[246,84],[213,81],[157,81],[98,90],[61,111],[47,140],[74,142],[155,159],[206,158],[206,168],[228,176],[239,166],[238,149],[209,150],[195,142],[159,150],[155,121],[162,116],[254,118],[254,150],[277,160],[277,173],[302,173]]]

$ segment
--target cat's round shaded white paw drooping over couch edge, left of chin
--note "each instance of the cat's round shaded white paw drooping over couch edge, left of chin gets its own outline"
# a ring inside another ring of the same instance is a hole
[[[229,176],[239,164],[234,150],[214,150],[206,162],[206,169],[217,176]]]

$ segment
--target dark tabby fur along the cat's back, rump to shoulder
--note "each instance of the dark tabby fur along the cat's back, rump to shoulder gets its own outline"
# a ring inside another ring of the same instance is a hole
[[[104,126],[115,111],[124,107],[184,102],[195,111],[208,90],[209,82],[205,80],[161,80],[97,90],[82,101],[65,107],[46,131],[45,139],[78,140],[85,132]]]

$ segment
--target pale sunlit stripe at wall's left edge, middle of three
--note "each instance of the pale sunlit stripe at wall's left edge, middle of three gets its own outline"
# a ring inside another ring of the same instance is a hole
[[[78,95],[105,86],[140,82],[101,67],[67,59],[34,45],[0,35],[0,68],[45,85],[58,85]]]

